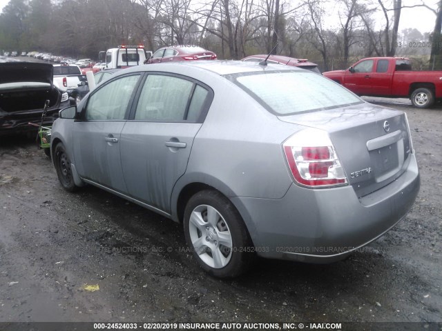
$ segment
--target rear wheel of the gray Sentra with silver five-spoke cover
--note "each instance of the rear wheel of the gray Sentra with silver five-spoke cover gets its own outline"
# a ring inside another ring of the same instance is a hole
[[[189,199],[184,210],[184,234],[200,267],[214,277],[238,277],[255,259],[244,221],[218,191],[204,190]]]

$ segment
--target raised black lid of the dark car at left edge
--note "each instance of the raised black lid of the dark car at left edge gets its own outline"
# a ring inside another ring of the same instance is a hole
[[[0,64],[0,84],[34,81],[52,85],[52,64],[10,62]]]

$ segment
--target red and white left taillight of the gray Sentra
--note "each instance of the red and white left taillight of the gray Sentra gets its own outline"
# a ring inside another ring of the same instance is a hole
[[[347,184],[347,176],[327,132],[302,130],[283,144],[295,181],[310,188]]]

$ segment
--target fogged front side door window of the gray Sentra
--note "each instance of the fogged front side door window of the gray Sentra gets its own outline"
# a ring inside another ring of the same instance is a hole
[[[115,79],[90,96],[86,106],[86,119],[106,121],[124,119],[139,74]]]

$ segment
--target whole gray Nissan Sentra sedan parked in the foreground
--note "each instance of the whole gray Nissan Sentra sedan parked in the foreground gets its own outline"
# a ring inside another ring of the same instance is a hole
[[[398,223],[419,191],[405,113],[298,68],[137,66],[59,117],[61,185],[96,185],[183,223],[215,277],[256,256],[343,259]]]

